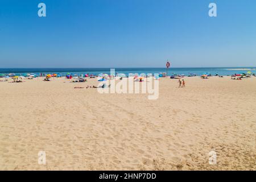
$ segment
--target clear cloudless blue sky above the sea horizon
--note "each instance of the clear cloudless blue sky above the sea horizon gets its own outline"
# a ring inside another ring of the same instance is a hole
[[[0,1],[0,68],[164,67],[167,59],[172,67],[255,67],[256,1]]]

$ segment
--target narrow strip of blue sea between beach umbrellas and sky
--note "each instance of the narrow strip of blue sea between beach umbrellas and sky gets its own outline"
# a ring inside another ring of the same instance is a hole
[[[163,73],[166,72],[166,68],[114,68],[115,73],[124,73],[128,75],[129,73]],[[197,76],[203,75],[203,73],[211,73],[211,75],[233,75],[234,73],[247,73],[250,71],[252,74],[256,74],[256,67],[244,67],[244,68],[169,68],[168,76],[173,75],[191,75],[196,74]],[[0,75],[8,75],[9,73],[15,73],[16,76],[21,76],[26,73],[34,73],[39,75],[40,73],[52,74],[60,73],[60,75],[65,76],[67,73],[72,75],[84,75],[93,74],[98,75],[100,73],[110,74],[110,68],[0,68]]]

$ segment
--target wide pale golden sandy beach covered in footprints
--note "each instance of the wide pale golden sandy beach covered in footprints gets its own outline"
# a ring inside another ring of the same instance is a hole
[[[42,80],[0,82],[1,170],[256,169],[256,77],[160,78],[158,100]]]

